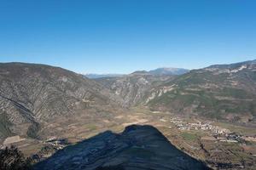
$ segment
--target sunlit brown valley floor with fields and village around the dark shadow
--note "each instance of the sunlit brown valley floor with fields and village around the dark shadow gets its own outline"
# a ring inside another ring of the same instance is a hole
[[[198,117],[178,117],[172,113],[148,111],[147,108],[132,108],[122,114],[94,112],[81,113],[73,118],[62,117],[55,122],[45,122],[39,133],[41,140],[21,139],[14,144],[26,156],[38,153],[41,157],[48,157],[67,143],[75,144],[106,130],[120,133],[131,124],[158,128],[179,150],[207,162],[214,169],[256,169],[255,128]]]

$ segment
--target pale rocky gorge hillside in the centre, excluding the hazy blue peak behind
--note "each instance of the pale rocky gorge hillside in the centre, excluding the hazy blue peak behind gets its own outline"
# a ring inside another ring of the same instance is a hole
[[[126,106],[134,106],[140,104],[149,89],[173,77],[172,75],[154,75],[148,71],[136,71],[124,77],[105,77],[95,81],[123,99]]]

